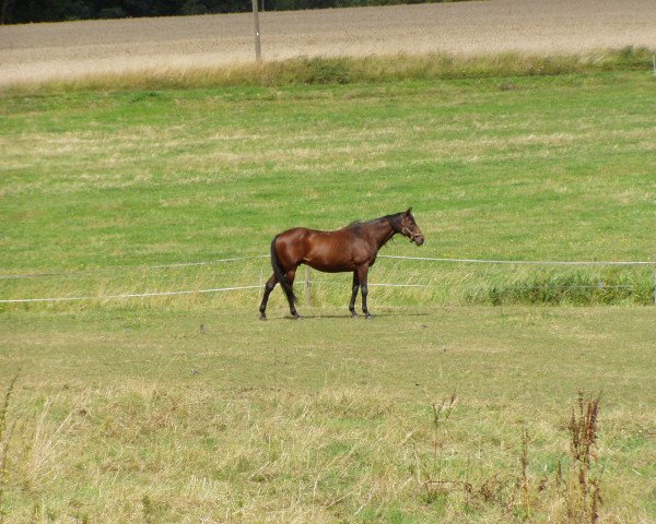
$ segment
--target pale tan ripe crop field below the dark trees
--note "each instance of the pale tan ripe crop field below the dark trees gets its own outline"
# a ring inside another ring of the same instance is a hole
[[[261,13],[265,60],[656,48],[654,0],[488,0]],[[253,15],[0,27],[0,85],[254,60]]]

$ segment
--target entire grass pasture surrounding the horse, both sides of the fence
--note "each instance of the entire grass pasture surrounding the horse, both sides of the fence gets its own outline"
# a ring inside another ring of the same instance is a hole
[[[0,303],[1,519],[655,522],[653,266],[379,259],[427,287],[373,286],[372,321],[349,275],[300,322],[280,289],[269,322],[258,289],[102,298],[259,285],[215,261],[410,205],[426,243],[384,254],[654,260],[654,82],[0,95],[0,299],[101,297]]]

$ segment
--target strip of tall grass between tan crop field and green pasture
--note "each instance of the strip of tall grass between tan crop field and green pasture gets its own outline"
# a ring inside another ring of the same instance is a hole
[[[653,51],[625,47],[583,55],[502,52],[477,56],[449,53],[367,57],[297,57],[226,67],[150,69],[90,74],[66,81],[10,86],[7,91],[159,90],[216,86],[284,86],[349,84],[401,80],[447,80],[536,76],[601,71],[648,70]],[[512,86],[508,84],[508,88]]]

